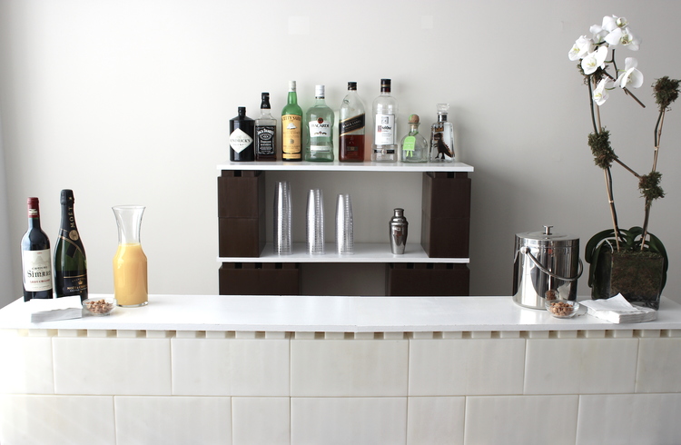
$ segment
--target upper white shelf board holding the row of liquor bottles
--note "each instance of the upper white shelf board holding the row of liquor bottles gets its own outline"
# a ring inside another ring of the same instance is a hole
[[[473,167],[467,163],[298,163],[274,161],[234,163],[225,161],[218,164],[218,170],[280,170],[300,172],[472,172]]]

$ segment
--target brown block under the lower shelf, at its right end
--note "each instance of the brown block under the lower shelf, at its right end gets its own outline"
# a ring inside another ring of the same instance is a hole
[[[467,296],[469,281],[466,264],[386,264],[386,295],[389,296]]]

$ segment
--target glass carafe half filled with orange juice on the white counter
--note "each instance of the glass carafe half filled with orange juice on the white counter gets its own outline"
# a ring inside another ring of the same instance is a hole
[[[112,207],[118,225],[114,256],[114,297],[119,306],[133,308],[149,302],[146,255],[140,243],[143,205]]]

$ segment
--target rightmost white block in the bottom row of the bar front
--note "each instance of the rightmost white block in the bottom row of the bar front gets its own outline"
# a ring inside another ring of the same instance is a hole
[[[579,445],[681,443],[681,394],[585,395],[579,400]]]

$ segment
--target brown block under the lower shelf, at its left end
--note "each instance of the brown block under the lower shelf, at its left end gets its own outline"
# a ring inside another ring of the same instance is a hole
[[[300,295],[301,269],[292,262],[223,262],[221,295]]]

